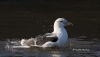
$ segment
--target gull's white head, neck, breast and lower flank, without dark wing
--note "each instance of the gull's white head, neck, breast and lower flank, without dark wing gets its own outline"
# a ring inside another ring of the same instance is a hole
[[[58,40],[55,42],[52,41],[47,41],[46,43],[44,43],[42,45],[43,48],[45,47],[54,47],[57,46],[59,48],[63,48],[66,45],[67,39],[68,39],[68,34],[66,29],[64,28],[64,26],[67,25],[71,25],[73,26],[73,24],[71,22],[68,22],[66,19],[64,18],[58,18],[55,22],[54,22],[54,31],[51,33],[53,34],[53,36],[47,36],[47,37],[57,37]]]

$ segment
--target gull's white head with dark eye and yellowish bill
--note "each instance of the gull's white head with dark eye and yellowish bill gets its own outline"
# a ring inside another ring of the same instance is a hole
[[[54,26],[64,27],[64,26],[73,26],[73,24],[71,22],[68,22],[65,18],[58,18],[55,21]]]

